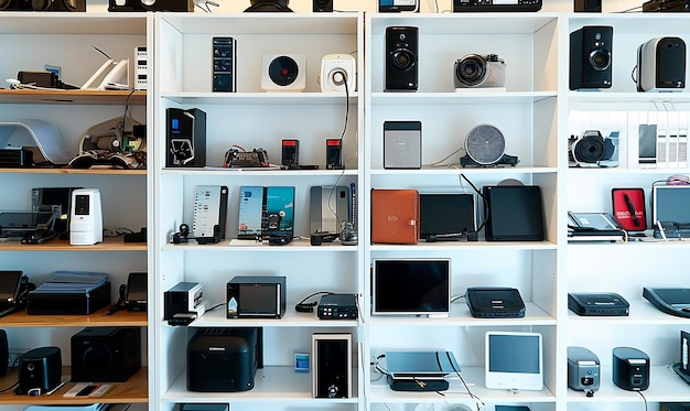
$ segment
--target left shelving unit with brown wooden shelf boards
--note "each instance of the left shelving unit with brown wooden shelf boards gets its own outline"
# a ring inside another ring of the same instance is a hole
[[[45,66],[60,69],[60,79],[82,86],[107,58],[133,57],[136,46],[151,46],[149,15],[112,17],[101,13],[0,13],[0,76],[17,78],[20,71],[43,71]],[[94,46],[94,47],[93,47]],[[130,71],[131,73],[131,71]],[[130,77],[130,82],[132,78]],[[8,87],[8,85],[3,85]],[[148,123],[147,91],[96,89],[0,89],[0,122],[3,138],[24,131],[11,125],[36,119],[54,125],[72,158],[79,152],[80,139],[91,126],[121,117],[129,104],[130,115]],[[10,126],[8,126],[10,125]],[[28,138],[28,136],[25,136]],[[29,144],[32,145],[32,144]],[[126,284],[128,273],[149,270],[145,242],[123,242],[121,236],[108,234],[123,228],[139,231],[149,221],[150,197],[147,195],[149,174],[145,170],[69,169],[64,166],[29,166],[0,169],[2,196],[0,210],[31,212],[32,190],[44,187],[95,187],[103,202],[103,242],[94,246],[71,246],[68,237],[55,238],[41,245],[22,245],[18,240],[0,242],[0,270],[21,270],[29,281],[41,284],[56,270],[96,271],[110,277],[110,301],[118,301],[118,289]],[[64,209],[64,215],[69,210]],[[151,285],[151,284],[149,284]],[[151,289],[151,286],[149,286]],[[56,307],[58,309],[58,307]],[[84,315],[29,315],[20,311],[0,318],[7,332],[10,359],[29,349],[56,346],[61,349],[62,375],[69,376],[72,358],[71,336],[84,327],[141,327],[142,367],[125,382],[114,382],[112,390],[99,398],[105,403],[131,403],[131,410],[149,407],[148,376],[148,315],[125,310],[105,315],[108,307]],[[14,365],[17,365],[14,363]],[[0,379],[3,388],[18,381],[17,367]],[[23,409],[28,404],[86,404],[93,398],[69,398],[64,393],[74,387],[67,382],[52,396],[29,397],[7,390],[0,394],[3,409]]]

